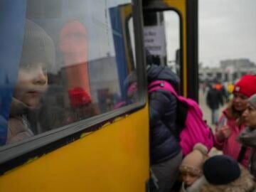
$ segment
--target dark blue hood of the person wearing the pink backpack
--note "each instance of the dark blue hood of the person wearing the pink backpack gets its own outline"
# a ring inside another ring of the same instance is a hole
[[[149,83],[153,80],[167,80],[177,92],[179,90],[180,80],[178,75],[166,66],[151,65],[147,70],[147,78]]]

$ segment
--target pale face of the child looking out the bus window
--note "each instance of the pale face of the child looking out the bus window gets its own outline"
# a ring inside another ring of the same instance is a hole
[[[14,97],[28,107],[36,108],[47,87],[48,76],[44,63],[21,65]]]

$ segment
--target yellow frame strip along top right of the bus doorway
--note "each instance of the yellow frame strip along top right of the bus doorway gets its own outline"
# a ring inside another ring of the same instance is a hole
[[[186,0],[164,0],[164,3],[170,7],[177,9],[181,14],[182,36],[183,36],[183,95],[188,96],[187,85],[187,58],[186,58]]]

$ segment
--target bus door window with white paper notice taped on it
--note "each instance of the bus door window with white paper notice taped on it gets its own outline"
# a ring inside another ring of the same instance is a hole
[[[152,55],[153,63],[168,65],[180,73],[181,31],[180,19],[176,11],[149,11],[150,18],[144,21],[145,47]]]

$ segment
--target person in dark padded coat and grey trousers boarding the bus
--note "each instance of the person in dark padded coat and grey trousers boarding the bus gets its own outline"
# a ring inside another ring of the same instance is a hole
[[[178,76],[167,67],[149,66],[147,78],[149,83],[166,80],[178,92]],[[176,107],[177,99],[169,91],[156,90],[149,95],[150,161],[151,171],[157,178],[158,192],[171,191],[182,160],[181,147],[174,134],[177,127]]]

